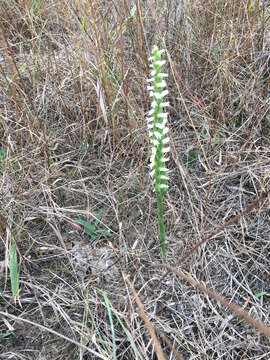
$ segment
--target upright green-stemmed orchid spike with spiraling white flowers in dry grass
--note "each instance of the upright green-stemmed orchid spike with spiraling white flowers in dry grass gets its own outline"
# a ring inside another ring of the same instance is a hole
[[[169,129],[167,127],[168,113],[163,109],[169,106],[168,102],[164,102],[164,97],[168,94],[166,89],[166,81],[164,77],[167,74],[162,73],[162,66],[166,63],[161,59],[161,54],[165,50],[159,50],[154,46],[152,56],[149,58],[151,70],[152,85],[148,86],[150,96],[152,97],[151,110],[147,116],[147,127],[152,145],[152,154],[150,157],[151,176],[154,179],[155,190],[157,194],[158,204],[158,224],[159,236],[162,256],[166,256],[165,247],[165,226],[163,221],[163,196],[168,190],[168,169],[166,168],[166,161],[168,157],[166,154],[170,151],[169,147]]]

